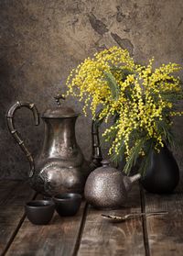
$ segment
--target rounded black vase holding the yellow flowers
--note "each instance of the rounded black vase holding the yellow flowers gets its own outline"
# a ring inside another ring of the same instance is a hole
[[[145,190],[155,194],[173,192],[178,185],[178,163],[165,145],[160,152],[152,151],[149,166],[141,179]]]

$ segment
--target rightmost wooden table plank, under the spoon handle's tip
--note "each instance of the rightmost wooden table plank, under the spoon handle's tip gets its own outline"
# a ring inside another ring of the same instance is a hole
[[[149,255],[183,255],[183,193],[180,184],[172,195],[144,192],[145,211],[168,211],[164,217],[146,217]]]

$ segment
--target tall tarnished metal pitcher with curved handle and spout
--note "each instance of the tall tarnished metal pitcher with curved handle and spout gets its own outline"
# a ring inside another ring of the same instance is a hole
[[[27,107],[34,115],[35,125],[39,124],[38,109],[35,104],[16,102],[7,113],[7,126],[30,164],[29,183],[38,193],[56,195],[58,193],[82,194],[88,175],[102,161],[97,125],[92,122],[92,161],[85,161],[75,138],[75,122],[80,114],[67,106],[60,106],[57,95],[57,107],[46,110],[40,117],[45,125],[42,150],[35,162],[33,156],[14,125],[14,115],[18,108]]]

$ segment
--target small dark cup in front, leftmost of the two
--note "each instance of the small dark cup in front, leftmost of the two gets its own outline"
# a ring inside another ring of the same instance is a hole
[[[53,217],[55,204],[50,200],[35,200],[25,206],[27,218],[36,225],[46,225]]]

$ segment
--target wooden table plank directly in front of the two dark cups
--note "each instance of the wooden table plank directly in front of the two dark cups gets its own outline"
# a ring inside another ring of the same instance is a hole
[[[45,226],[31,224],[27,218],[5,255],[73,255],[80,236],[85,203],[74,217],[59,217],[55,213]]]

